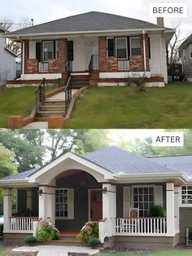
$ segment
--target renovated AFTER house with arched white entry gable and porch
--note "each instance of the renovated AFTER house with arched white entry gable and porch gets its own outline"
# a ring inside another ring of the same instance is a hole
[[[35,233],[39,219],[51,219],[63,232],[96,220],[106,247],[172,247],[185,243],[185,228],[192,226],[192,156],[146,158],[116,147],[84,156],[66,152],[37,170],[0,179],[0,187],[5,241]],[[166,217],[150,217],[153,205],[162,205]]]

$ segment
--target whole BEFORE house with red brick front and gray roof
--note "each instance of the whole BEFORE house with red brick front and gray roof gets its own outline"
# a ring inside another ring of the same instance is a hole
[[[120,15],[91,11],[9,33],[23,43],[23,80],[68,78],[90,86],[116,85],[147,77],[168,82],[166,46],[173,29]]]

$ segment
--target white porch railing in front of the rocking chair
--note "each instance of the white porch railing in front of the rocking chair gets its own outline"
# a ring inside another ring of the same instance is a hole
[[[164,235],[166,218],[116,218],[116,235]]]

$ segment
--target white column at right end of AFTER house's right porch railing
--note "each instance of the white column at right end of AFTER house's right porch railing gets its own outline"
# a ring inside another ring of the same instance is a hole
[[[166,183],[167,233],[174,236],[174,183]]]

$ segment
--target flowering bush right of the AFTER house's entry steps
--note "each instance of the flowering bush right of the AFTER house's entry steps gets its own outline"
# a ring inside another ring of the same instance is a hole
[[[85,223],[85,226],[81,228],[77,238],[78,241],[83,243],[87,243],[89,238],[98,238],[98,222],[89,221],[88,223]]]

